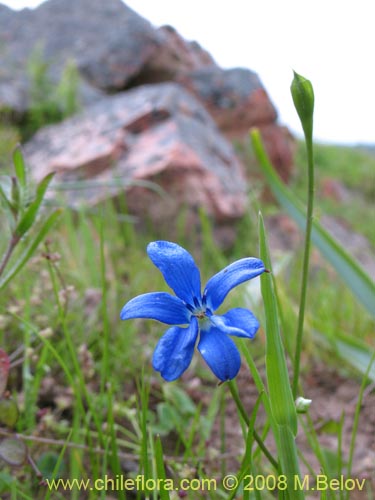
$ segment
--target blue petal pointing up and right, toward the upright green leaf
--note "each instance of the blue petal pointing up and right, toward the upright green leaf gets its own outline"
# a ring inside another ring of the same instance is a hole
[[[211,311],[215,311],[223,303],[232,288],[244,281],[255,278],[255,276],[259,276],[264,270],[263,262],[255,257],[237,260],[225,267],[212,276],[206,285],[203,297],[206,297],[207,306]]]

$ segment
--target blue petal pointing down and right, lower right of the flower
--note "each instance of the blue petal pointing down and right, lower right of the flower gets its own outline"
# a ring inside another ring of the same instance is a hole
[[[234,378],[241,366],[241,357],[231,338],[212,326],[201,331],[198,350],[221,381]]]

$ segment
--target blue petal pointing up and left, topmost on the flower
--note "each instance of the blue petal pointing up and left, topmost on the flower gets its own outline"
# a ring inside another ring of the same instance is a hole
[[[197,306],[197,300],[201,301],[201,279],[189,252],[176,243],[154,241],[149,243],[147,253],[177,297]]]

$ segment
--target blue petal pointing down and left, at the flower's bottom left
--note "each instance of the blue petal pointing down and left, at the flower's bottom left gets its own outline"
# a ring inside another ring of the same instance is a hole
[[[157,343],[152,366],[164,380],[171,382],[180,377],[190,365],[198,335],[198,321],[192,318],[188,328],[173,326]]]

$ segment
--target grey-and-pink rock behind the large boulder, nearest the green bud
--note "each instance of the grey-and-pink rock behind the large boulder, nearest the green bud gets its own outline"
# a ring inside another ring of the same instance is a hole
[[[276,110],[258,76],[243,68],[207,66],[180,74],[177,80],[205,106],[229,139],[241,139],[258,127],[280,177],[288,182],[293,169],[294,142],[280,127]]]

